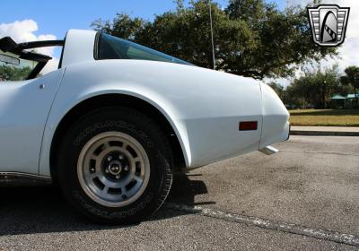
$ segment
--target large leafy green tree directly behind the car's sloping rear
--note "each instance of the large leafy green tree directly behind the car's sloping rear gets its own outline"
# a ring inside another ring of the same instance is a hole
[[[258,79],[288,77],[297,65],[337,55],[337,48],[312,42],[305,8],[280,11],[265,0],[231,0],[224,10],[211,4],[218,70]],[[212,68],[209,24],[208,0],[192,0],[188,7],[178,0],[175,11],[153,22],[118,13],[112,22],[97,20],[92,28]]]

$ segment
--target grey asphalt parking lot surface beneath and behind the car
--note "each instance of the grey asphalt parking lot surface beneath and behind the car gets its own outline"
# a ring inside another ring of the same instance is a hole
[[[176,175],[162,209],[133,226],[83,219],[57,187],[0,188],[0,250],[357,250],[359,137],[276,147]]]

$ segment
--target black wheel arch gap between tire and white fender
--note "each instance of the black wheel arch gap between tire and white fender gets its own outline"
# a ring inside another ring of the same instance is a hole
[[[99,107],[99,103],[101,104],[101,107]],[[180,170],[187,165],[185,155],[186,151],[180,143],[180,135],[174,130],[174,125],[171,125],[169,119],[163,115],[159,108],[154,107],[153,104],[148,101],[127,94],[100,94],[82,100],[76,104],[73,108],[66,112],[66,115],[62,117],[58,123],[51,140],[49,152],[50,175],[53,177],[55,182],[57,178],[57,151],[61,143],[61,139],[66,134],[66,131],[71,127],[71,125],[73,125],[74,120],[81,117],[81,115],[104,107],[135,108],[139,112],[143,112],[145,115],[153,118],[153,121],[162,128],[169,138],[175,170]]]

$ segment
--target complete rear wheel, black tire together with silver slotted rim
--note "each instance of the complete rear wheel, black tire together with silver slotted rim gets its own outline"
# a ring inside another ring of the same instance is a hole
[[[129,108],[102,108],[74,123],[60,147],[58,182],[94,221],[130,223],[155,212],[171,188],[170,145]]]

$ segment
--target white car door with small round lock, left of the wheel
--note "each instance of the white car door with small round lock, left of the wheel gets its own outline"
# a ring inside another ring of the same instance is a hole
[[[63,73],[0,82],[0,172],[38,174],[42,135]]]

